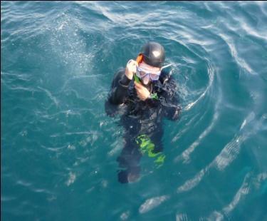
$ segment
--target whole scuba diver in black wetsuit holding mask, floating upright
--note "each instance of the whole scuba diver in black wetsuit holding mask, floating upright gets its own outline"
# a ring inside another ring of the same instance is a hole
[[[105,111],[110,116],[120,114],[119,125],[125,129],[125,145],[117,158],[120,183],[140,177],[142,155],[155,158],[158,167],[164,162],[162,120],[177,120],[181,112],[177,84],[165,71],[164,59],[163,46],[148,42],[136,61],[128,61],[113,77]]]

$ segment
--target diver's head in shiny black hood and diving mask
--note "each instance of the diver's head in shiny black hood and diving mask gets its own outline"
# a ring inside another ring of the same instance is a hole
[[[159,79],[164,60],[164,48],[159,43],[150,41],[142,46],[137,57],[137,76],[143,84],[147,85]]]

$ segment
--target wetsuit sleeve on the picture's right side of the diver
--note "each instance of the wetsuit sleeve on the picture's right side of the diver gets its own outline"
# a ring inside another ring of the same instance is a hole
[[[164,92],[161,99],[164,116],[169,120],[177,120],[182,112],[179,106],[179,97],[177,95],[177,83],[174,78],[169,77],[164,83]]]

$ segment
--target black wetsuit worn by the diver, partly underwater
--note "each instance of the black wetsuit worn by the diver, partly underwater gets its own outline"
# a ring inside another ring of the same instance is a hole
[[[125,76],[125,69],[115,73],[105,111],[108,115],[121,114],[120,125],[125,128],[125,147],[117,158],[121,170],[120,183],[128,183],[140,174],[140,152],[136,138],[147,135],[155,144],[154,152],[162,151],[162,119],[177,120],[181,107],[178,105],[177,84],[169,73],[162,71],[159,81],[152,82],[152,93],[158,98],[141,101],[135,91],[134,78]]]

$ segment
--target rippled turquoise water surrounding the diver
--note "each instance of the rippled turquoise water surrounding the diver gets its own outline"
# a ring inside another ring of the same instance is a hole
[[[267,220],[266,2],[1,1],[1,218]],[[117,181],[105,100],[147,41],[182,106],[164,165]]]

